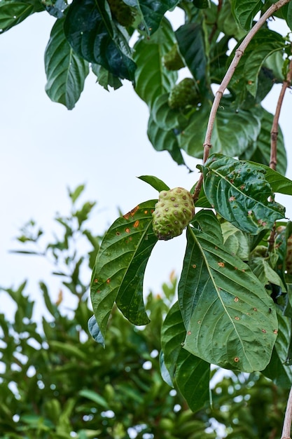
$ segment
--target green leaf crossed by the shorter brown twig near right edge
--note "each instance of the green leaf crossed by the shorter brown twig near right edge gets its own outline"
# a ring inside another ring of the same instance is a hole
[[[250,145],[244,153],[239,156],[242,160],[251,160],[257,163],[269,165],[270,163],[270,149],[271,149],[271,126],[273,114],[263,109],[263,116],[260,121],[260,133],[256,142]],[[287,168],[286,149],[284,147],[284,138],[281,128],[278,127],[277,136],[277,171],[285,175]]]

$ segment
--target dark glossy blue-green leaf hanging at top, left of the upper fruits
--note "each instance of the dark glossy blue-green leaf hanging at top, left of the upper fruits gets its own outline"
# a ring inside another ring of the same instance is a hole
[[[136,65],[130,47],[111,20],[109,5],[104,0],[74,0],[68,8],[64,32],[79,56],[102,65],[118,78],[134,81]]]

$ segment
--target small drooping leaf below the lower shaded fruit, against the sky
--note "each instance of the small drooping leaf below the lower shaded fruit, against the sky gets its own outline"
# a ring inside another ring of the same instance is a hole
[[[156,151],[168,151],[176,163],[185,164],[174,130],[162,130],[150,116],[147,134]]]

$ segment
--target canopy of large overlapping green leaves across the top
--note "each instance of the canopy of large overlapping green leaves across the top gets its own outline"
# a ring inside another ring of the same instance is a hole
[[[46,11],[57,18],[46,47],[46,92],[51,100],[72,109],[81,95],[90,69],[104,88],[132,81],[134,90],[149,107],[148,137],[153,147],[167,149],[184,163],[181,149],[202,157],[202,143],[214,98],[240,41],[258,12],[270,0],[209,1],[149,0],[0,1],[0,29],[6,32],[29,15]],[[185,22],[174,31],[165,18],[175,7]],[[277,13],[291,27],[291,4]],[[134,39],[131,39],[134,36]],[[135,41],[133,44],[132,41]],[[231,47],[235,46],[233,50]],[[176,48],[179,63],[166,58]],[[274,83],[283,81],[290,44],[269,29],[254,36],[236,70],[229,93],[216,116],[213,151],[268,164],[272,115],[261,102]],[[177,69],[177,70],[176,70]],[[194,80],[197,104],[169,106],[169,95],[179,70]],[[286,153],[278,137],[278,170],[285,173]]]

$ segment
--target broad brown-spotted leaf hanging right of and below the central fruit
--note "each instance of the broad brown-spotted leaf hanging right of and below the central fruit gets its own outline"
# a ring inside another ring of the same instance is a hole
[[[190,353],[242,372],[267,366],[277,331],[272,299],[248,265],[190,227],[179,304]]]

